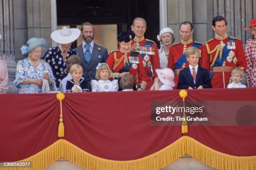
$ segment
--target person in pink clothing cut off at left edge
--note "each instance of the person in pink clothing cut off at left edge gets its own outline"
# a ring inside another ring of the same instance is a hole
[[[0,34],[0,40],[2,36]],[[0,94],[5,94],[8,90],[8,70],[5,61],[0,60]]]

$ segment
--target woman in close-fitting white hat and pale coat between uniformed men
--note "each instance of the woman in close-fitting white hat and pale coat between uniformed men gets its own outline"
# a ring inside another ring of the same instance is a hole
[[[159,35],[157,35],[158,41],[161,41],[163,44],[162,48],[158,50],[160,58],[160,68],[167,68],[169,48],[172,46],[172,43],[175,41],[174,32],[172,28],[166,27],[161,29]]]

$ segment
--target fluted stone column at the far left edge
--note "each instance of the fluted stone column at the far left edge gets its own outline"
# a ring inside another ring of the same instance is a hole
[[[16,62],[14,52],[13,30],[13,0],[0,0],[0,33],[3,39],[0,41],[0,59],[7,63],[9,81],[8,93],[16,91],[13,81],[15,79]]]

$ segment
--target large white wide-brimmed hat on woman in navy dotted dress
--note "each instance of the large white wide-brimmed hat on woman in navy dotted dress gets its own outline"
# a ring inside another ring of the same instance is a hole
[[[61,30],[55,30],[51,33],[51,39],[60,44],[72,43],[79,37],[80,33],[77,28],[62,27]]]

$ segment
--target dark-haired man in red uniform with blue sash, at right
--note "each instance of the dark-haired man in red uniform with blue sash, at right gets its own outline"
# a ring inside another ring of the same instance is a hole
[[[245,53],[241,41],[227,35],[227,22],[223,16],[213,18],[212,29],[216,33],[215,38],[205,43],[212,68],[212,88],[227,88],[234,68],[246,71]]]

